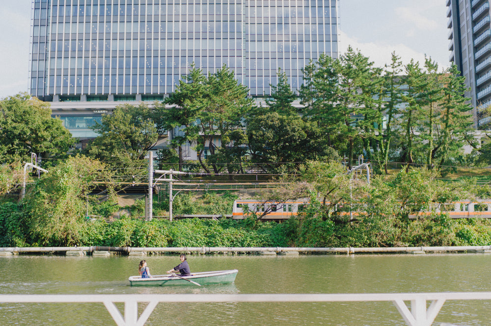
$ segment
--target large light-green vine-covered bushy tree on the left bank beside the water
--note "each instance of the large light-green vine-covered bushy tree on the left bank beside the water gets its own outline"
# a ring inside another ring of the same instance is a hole
[[[70,157],[41,176],[23,201],[31,241],[41,246],[79,245],[86,196],[95,181],[109,177],[104,164],[84,156]]]

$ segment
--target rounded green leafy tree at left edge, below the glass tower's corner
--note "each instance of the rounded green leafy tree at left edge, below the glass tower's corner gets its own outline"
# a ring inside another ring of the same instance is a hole
[[[51,117],[49,103],[18,94],[0,100],[0,162],[66,157],[75,143],[59,119]]]

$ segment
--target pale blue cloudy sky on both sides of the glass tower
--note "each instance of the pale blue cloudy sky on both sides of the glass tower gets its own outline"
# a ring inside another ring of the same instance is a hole
[[[0,0],[0,99],[28,90],[31,0]],[[449,66],[445,0],[340,0],[340,51],[358,49],[378,67],[403,61]]]

